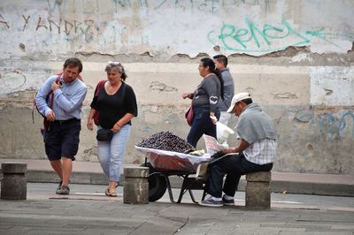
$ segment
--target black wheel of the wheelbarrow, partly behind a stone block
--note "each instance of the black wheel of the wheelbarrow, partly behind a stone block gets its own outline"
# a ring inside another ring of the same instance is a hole
[[[149,201],[158,201],[165,194],[167,183],[165,177],[161,174],[152,174],[149,181]]]

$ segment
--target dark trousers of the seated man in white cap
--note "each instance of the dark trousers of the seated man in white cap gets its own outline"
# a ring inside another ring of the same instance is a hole
[[[243,154],[227,155],[210,164],[209,177],[206,182],[205,191],[217,198],[221,197],[222,192],[226,193],[228,196],[235,196],[242,175],[258,171],[271,171],[272,168],[273,163],[264,165],[250,163]],[[225,179],[223,187],[222,183],[225,175],[227,175],[227,178]]]

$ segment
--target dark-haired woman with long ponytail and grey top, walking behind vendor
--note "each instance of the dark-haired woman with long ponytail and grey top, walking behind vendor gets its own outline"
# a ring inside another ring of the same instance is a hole
[[[216,122],[220,117],[219,102],[223,94],[223,80],[211,58],[202,58],[199,63],[199,74],[204,79],[196,87],[194,93],[184,93],[183,99],[192,99],[194,111],[193,123],[187,141],[196,147],[203,134],[216,139]]]

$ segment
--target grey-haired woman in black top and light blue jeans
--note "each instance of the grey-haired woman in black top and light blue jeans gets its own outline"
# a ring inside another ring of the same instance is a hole
[[[137,104],[132,87],[125,83],[127,74],[119,62],[108,62],[107,80],[96,87],[89,112],[88,128],[93,130],[94,116],[98,112],[97,129],[112,129],[112,140],[97,141],[97,155],[104,174],[109,179],[107,196],[116,197],[120,168],[124,162],[127,140],[131,132],[131,119],[137,116]]]

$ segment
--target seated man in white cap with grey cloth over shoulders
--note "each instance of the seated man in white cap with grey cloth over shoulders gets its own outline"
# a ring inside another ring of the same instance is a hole
[[[235,205],[235,192],[242,175],[257,171],[271,171],[275,158],[276,132],[273,120],[258,104],[252,102],[249,93],[236,94],[229,113],[239,117],[235,131],[239,146],[227,148],[215,156],[227,155],[209,167],[205,191],[210,197],[199,202],[202,206],[222,207]],[[227,175],[224,186],[223,178]],[[222,193],[224,195],[222,196]]]

